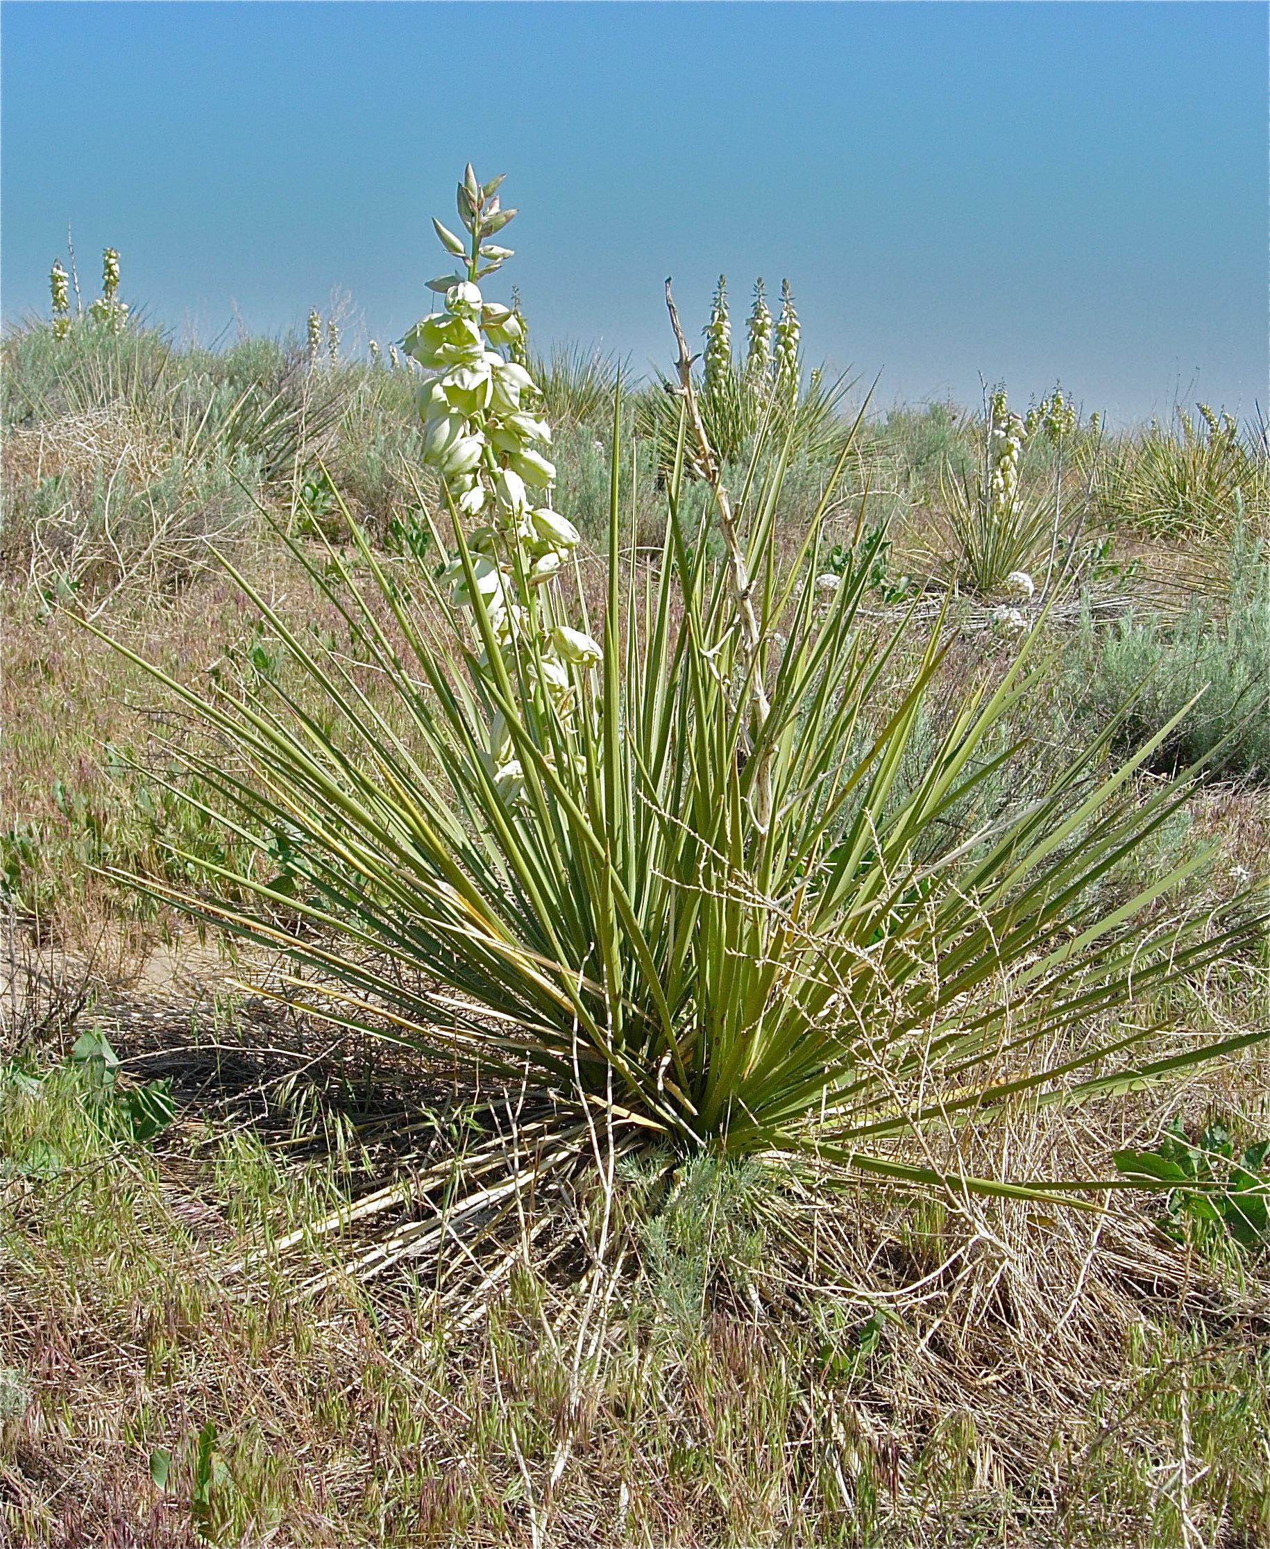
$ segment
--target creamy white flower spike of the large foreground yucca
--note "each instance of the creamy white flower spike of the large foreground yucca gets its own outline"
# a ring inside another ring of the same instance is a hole
[[[489,627],[503,652],[537,640],[539,688],[556,711],[573,705],[570,666],[593,666],[599,646],[581,630],[548,620],[537,589],[551,579],[581,542],[578,528],[551,510],[556,469],[545,452],[551,428],[531,409],[537,387],[514,355],[523,344],[519,308],[486,301],[477,279],[511,257],[510,248],[485,242],[516,211],[499,209],[502,178],[480,184],[471,166],[458,184],[458,215],[471,235],[460,237],[434,220],[446,251],[466,259],[466,276],[431,280],[444,291],[444,311],[423,318],[406,335],[406,353],[431,375],[417,389],[423,420],[423,459],[441,474],[457,510],[480,525],[468,538],[471,579],[455,559],[443,573],[455,607],[475,609],[480,593]],[[522,655],[523,661],[523,655]],[[523,788],[508,726],[497,714],[489,726],[488,765],[505,801]]]

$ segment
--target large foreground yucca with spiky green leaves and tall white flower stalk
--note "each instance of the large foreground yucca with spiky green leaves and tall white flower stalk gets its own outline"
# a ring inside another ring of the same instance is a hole
[[[489,189],[471,169],[460,186],[468,276]],[[463,251],[444,228],[441,240]],[[939,630],[904,672],[908,626],[878,637],[866,624],[881,536],[863,519],[826,586],[835,479],[796,559],[777,564],[791,431],[759,446],[734,508],[681,335],[660,553],[637,562],[621,510],[615,393],[601,638],[584,613],[581,630],[568,623],[582,606],[570,568],[533,584],[527,545],[542,528],[506,497],[513,465],[531,465],[522,441],[496,438],[503,356],[482,347],[496,383],[485,409],[474,378],[449,380],[468,367],[444,352],[482,318],[505,328],[506,308],[472,296],[472,279],[444,279],[451,310],[407,344],[440,370],[421,404],[431,455],[449,463],[454,562],[440,578],[390,567],[352,519],[352,559],[296,547],[345,620],[344,652],[235,576],[328,713],[277,678],[204,699],[150,669],[235,750],[237,771],[221,756],[189,768],[218,793],[204,810],[229,813],[220,821],[257,855],[240,871],[200,861],[220,897],[153,892],[280,950],[300,970],[300,1004],[333,1024],[553,1094],[539,1169],[576,1157],[576,1137],[602,1121],[627,1145],[818,1157],[906,1185],[1089,1187],[971,1177],[923,1146],[932,1128],[1121,1090],[1262,1036],[1135,1066],[1146,1033],[1115,1022],[1131,996],[1259,928],[1248,898],[1220,919],[1158,915],[1202,857],[1128,895],[1106,886],[1185,799],[1185,784],[1128,799],[1155,744],[1107,776],[1103,737],[1038,796],[932,849],[940,819],[1019,754],[1007,728],[1041,674],[1036,641],[996,686],[965,694],[901,785],[942,692]],[[506,376],[520,406],[533,401],[522,378]],[[474,395],[462,412],[437,407],[458,393]],[[530,415],[514,434],[545,429]],[[689,445],[712,494],[692,528]],[[488,525],[469,533],[474,511]],[[711,528],[722,564],[708,559]],[[553,1134],[575,1149],[550,1151]],[[475,1197],[500,1197],[482,1179]]]

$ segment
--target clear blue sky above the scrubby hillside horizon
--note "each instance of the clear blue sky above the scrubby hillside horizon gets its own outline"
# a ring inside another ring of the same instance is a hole
[[[1056,378],[1126,420],[1267,400],[1267,8],[1251,3],[0,6],[3,313],[204,342],[400,338],[471,158],[506,172],[539,347],[671,358],[661,282],[734,335],[788,277],[878,403]]]

